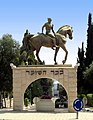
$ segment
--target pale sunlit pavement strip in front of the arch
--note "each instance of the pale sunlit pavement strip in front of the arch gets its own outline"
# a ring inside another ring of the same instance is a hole
[[[76,120],[76,113],[63,112],[37,112],[34,110],[13,111],[13,109],[0,109],[0,120]],[[79,112],[78,120],[93,120],[93,112]]]

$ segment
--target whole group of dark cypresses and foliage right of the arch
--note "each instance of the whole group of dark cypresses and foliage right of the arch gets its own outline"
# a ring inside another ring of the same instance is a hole
[[[85,53],[85,54],[84,54]],[[90,93],[93,88],[93,23],[92,15],[89,13],[88,16],[88,30],[87,30],[87,48],[84,51],[84,47],[78,49],[78,93]]]

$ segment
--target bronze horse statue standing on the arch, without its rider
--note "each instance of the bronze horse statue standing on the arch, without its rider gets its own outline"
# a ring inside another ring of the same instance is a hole
[[[55,55],[54,55],[54,62],[55,64],[57,64],[56,56],[59,51],[59,48],[61,47],[66,53],[65,58],[62,61],[62,63],[64,64],[67,60],[67,55],[68,55],[68,51],[65,46],[66,38],[68,36],[69,39],[72,39],[73,38],[72,32],[73,32],[73,29],[71,26],[64,25],[58,29],[54,37],[50,37],[42,33],[35,36],[27,35],[23,38],[23,46],[21,47],[22,48],[21,52],[23,50],[26,50],[27,53],[31,54],[33,51],[36,51],[36,57],[38,61],[42,63],[42,61],[39,58],[39,52],[41,47],[44,46],[44,47],[53,48],[53,44],[54,44],[53,41],[55,41],[56,49],[55,49]]]

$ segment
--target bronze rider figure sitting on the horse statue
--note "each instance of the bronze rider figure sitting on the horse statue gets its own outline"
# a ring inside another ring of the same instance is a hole
[[[55,37],[55,32],[54,32],[54,30],[53,30],[53,24],[51,24],[51,22],[52,22],[52,19],[51,18],[48,18],[48,22],[46,22],[43,26],[42,26],[42,33],[43,33],[43,30],[44,30],[44,28],[45,28],[45,30],[46,30],[46,35],[48,35],[48,36],[50,36],[51,38],[52,38],[52,42],[53,42],[53,47],[56,47],[56,41],[55,40],[53,40],[53,38]],[[53,34],[54,34],[54,36],[52,35],[52,34],[50,34],[50,32],[53,32]],[[54,49],[52,47],[52,49]]]

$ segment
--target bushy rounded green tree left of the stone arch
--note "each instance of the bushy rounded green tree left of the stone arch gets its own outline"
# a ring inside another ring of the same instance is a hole
[[[20,45],[12,35],[6,34],[0,39],[0,92],[12,92],[12,70],[10,63],[19,64]]]

